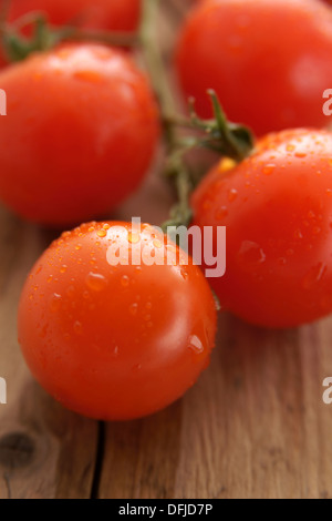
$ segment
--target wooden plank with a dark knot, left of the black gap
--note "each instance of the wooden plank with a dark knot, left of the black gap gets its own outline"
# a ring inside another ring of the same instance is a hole
[[[0,207],[0,498],[89,498],[97,423],[65,411],[34,384],[17,341],[25,276],[50,234]]]

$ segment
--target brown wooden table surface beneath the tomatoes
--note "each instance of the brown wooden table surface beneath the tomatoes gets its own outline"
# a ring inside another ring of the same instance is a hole
[[[164,41],[181,2],[162,17]],[[116,216],[158,223],[169,204],[153,173]],[[331,318],[271,331],[221,315],[212,364],[181,400],[98,423],[46,396],[18,347],[20,290],[53,236],[0,207],[0,498],[332,498]]]

